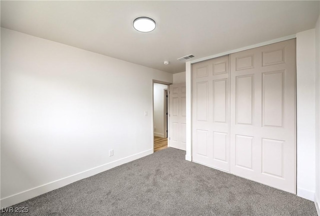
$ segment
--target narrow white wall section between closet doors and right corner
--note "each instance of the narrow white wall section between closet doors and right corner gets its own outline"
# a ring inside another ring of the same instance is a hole
[[[315,40],[314,29],[296,34],[297,195],[315,192]]]

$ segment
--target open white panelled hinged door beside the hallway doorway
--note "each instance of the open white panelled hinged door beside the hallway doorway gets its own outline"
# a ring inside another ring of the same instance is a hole
[[[169,86],[168,146],[185,150],[185,83]]]

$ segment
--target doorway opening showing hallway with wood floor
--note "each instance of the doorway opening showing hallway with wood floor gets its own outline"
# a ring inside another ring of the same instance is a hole
[[[153,81],[153,150],[168,146],[168,88],[170,83]]]

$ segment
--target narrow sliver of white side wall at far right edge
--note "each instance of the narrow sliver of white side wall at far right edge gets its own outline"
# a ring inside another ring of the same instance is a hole
[[[320,7],[319,7],[320,10]],[[320,214],[320,16],[315,24],[315,206]]]

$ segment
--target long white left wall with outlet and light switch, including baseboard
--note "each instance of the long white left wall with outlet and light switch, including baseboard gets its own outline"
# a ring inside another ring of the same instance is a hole
[[[172,74],[1,28],[1,207],[152,153],[152,79]]]

